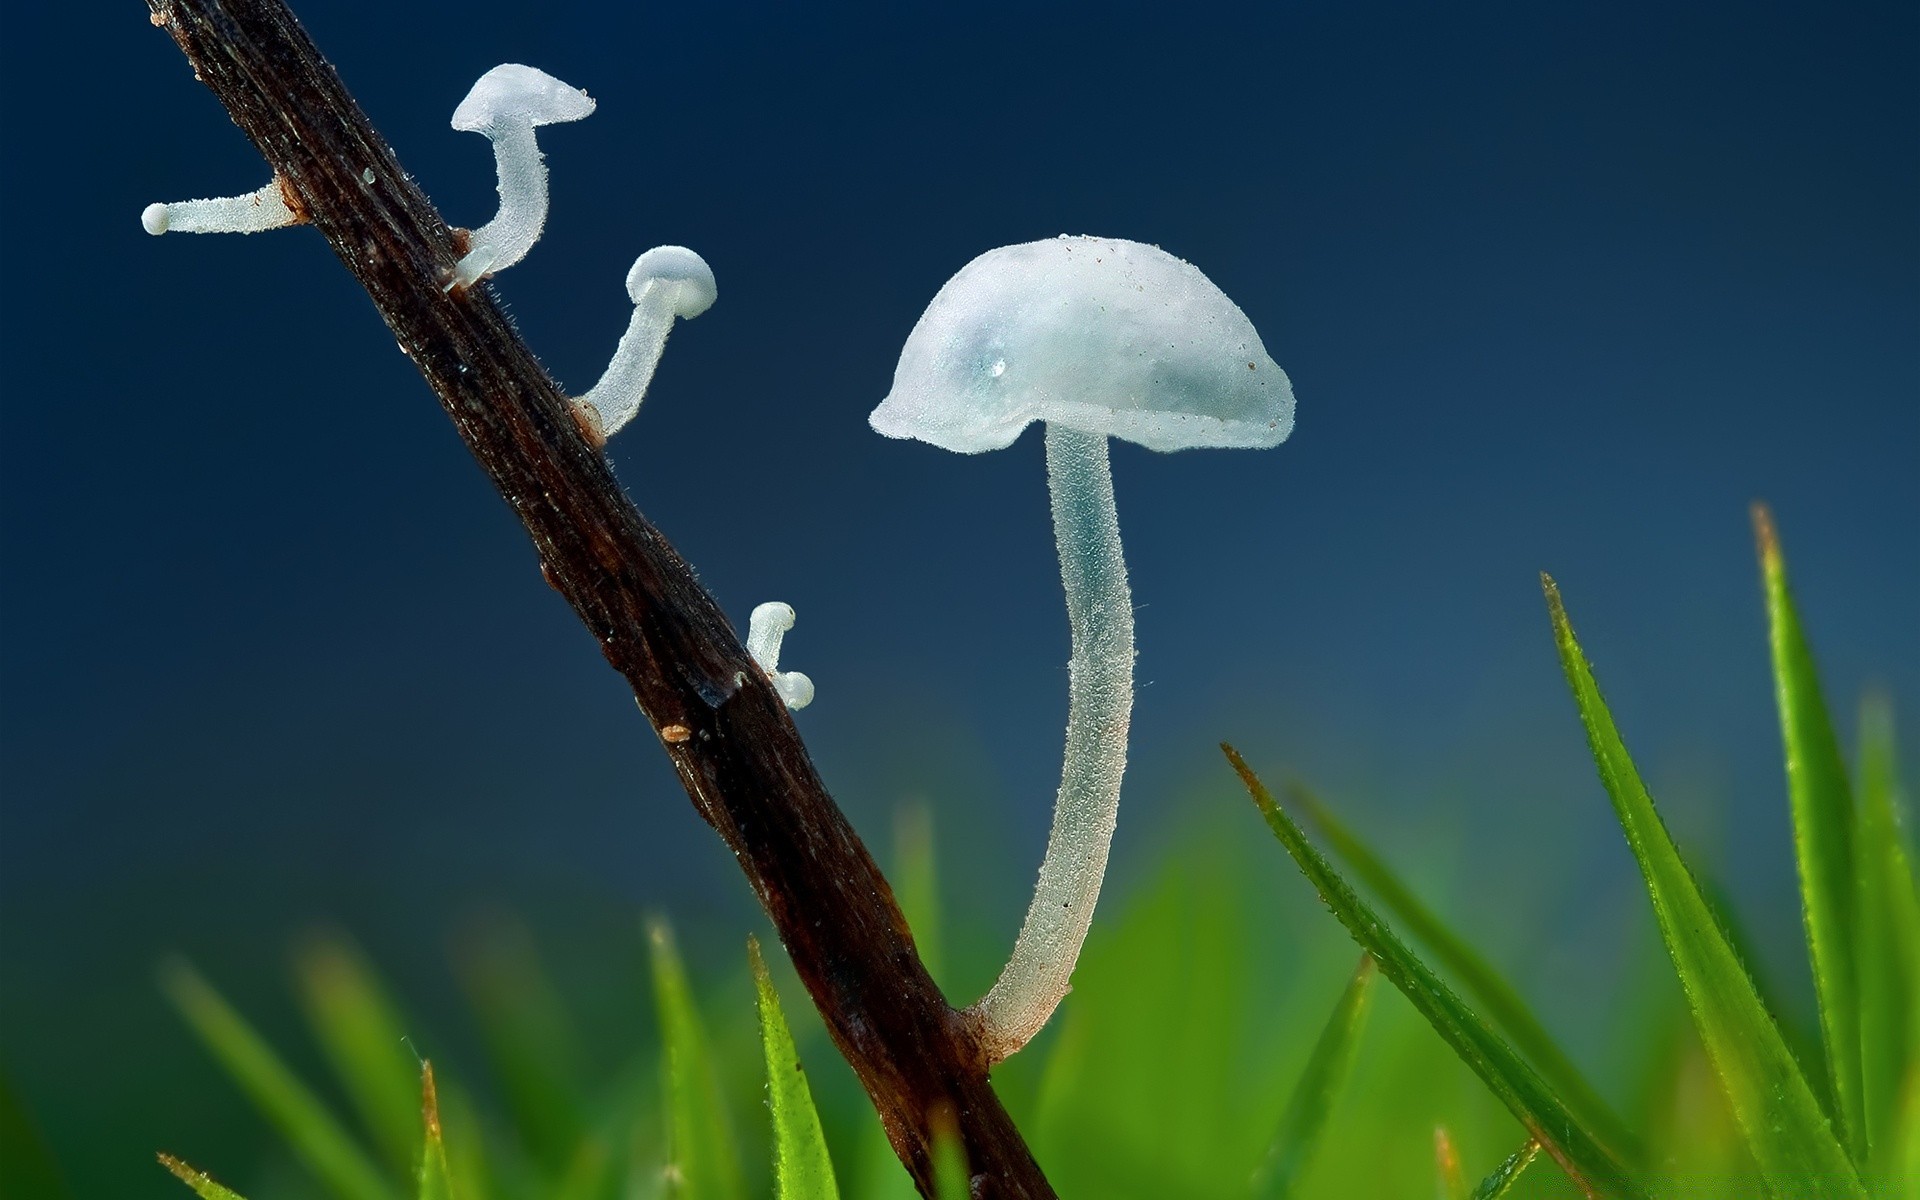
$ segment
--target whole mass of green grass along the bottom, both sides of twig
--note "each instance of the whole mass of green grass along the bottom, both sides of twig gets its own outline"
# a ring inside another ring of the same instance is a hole
[[[1693,879],[1667,835],[1548,584],[1561,666],[1661,931],[1613,972],[1607,995],[1590,996],[1596,1010],[1632,1014],[1601,1079],[1611,1100],[1526,1002],[1538,979],[1505,979],[1440,920],[1448,897],[1417,895],[1371,837],[1290,785],[1288,806],[1311,816],[1352,879],[1342,876],[1229,751],[1271,833],[1363,947],[1361,964],[1352,968],[1338,925],[1302,902],[1244,822],[1167,839],[1150,877],[1102,910],[1054,1025],[995,1075],[1060,1194],[1920,1200],[1920,895],[1893,716],[1882,699],[1862,707],[1851,787],[1770,526],[1761,557],[1818,1046],[1807,1037],[1795,1054],[1755,987],[1730,933],[1738,912]],[[1204,797],[1233,814],[1225,783]],[[948,937],[937,851],[925,810],[902,810],[891,874],[945,977],[950,958],[979,968],[991,943]],[[1500,895],[1501,858],[1465,852],[1475,887]],[[1845,947],[1822,948],[1832,939]],[[636,1035],[589,1046],[524,927],[499,922],[470,939],[459,964],[482,1054],[445,1058],[444,1077],[415,1056],[415,1027],[382,973],[338,933],[296,954],[321,1083],[192,968],[171,964],[163,985],[280,1135],[282,1150],[240,1167],[253,1200],[914,1194],[818,1016],[795,1008],[789,1023],[776,987],[776,975],[791,979],[783,960],[762,962],[755,947],[749,973],[701,979],[664,922],[645,937],[636,925],[641,941],[653,989],[626,998]],[[1377,989],[1375,972],[1396,987]],[[655,1033],[643,1035],[649,1004]],[[0,1194],[19,1194],[15,1162],[58,1187],[36,1144],[0,1079]],[[968,1194],[956,1154],[937,1146],[943,1198]],[[236,1196],[161,1162],[202,1196]]]

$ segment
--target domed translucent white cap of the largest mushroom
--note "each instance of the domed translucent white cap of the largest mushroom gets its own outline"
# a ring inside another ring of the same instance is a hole
[[[1254,324],[1192,263],[1119,238],[989,250],[939,290],[868,422],[956,453],[1033,420],[1148,449],[1265,447],[1294,390]]]

